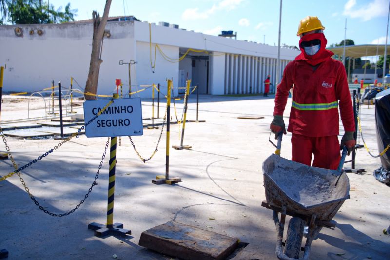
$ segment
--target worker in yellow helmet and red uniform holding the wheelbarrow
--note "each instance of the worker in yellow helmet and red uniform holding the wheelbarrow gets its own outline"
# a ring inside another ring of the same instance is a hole
[[[325,28],[317,17],[300,21],[297,35],[301,53],[287,64],[277,86],[271,130],[286,134],[283,112],[293,86],[288,131],[292,132],[292,160],[306,165],[337,169],[340,148],[354,149],[354,116],[344,65],[325,49]],[[339,113],[344,126],[341,144]],[[275,138],[276,138],[275,135]]]

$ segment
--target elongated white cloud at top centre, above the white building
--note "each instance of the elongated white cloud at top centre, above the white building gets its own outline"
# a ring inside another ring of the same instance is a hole
[[[206,19],[210,15],[214,14],[217,11],[231,11],[237,8],[244,0],[220,0],[218,3],[213,4],[210,9],[199,12],[199,8],[187,8],[184,10],[181,18],[183,20],[197,20],[197,19]]]

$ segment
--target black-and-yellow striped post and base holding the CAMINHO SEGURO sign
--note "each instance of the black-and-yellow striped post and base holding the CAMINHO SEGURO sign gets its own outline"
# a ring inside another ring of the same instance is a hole
[[[114,94],[115,99],[118,98],[118,94]],[[107,235],[118,235],[126,237],[131,235],[131,230],[123,229],[123,224],[115,223],[114,219],[114,191],[115,191],[115,166],[117,164],[117,137],[111,137],[110,143],[110,171],[108,179],[108,199],[107,199],[107,224],[91,223],[88,225],[88,229],[95,231],[95,236],[105,237]]]

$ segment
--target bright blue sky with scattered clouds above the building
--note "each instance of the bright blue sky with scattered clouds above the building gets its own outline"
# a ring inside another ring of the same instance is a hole
[[[56,8],[70,2],[76,20],[103,15],[105,0],[49,0]],[[283,0],[281,44],[298,45],[299,20],[318,16],[328,45],[347,39],[355,44],[385,44],[389,0]],[[113,0],[110,16],[134,15],[142,21],[165,21],[180,28],[218,35],[237,32],[237,40],[277,45],[280,0]],[[389,40],[388,40],[389,42]]]

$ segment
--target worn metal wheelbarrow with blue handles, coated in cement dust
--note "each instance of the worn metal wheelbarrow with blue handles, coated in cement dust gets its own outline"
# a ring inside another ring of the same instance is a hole
[[[263,162],[265,196],[261,206],[273,210],[277,235],[276,255],[282,260],[306,260],[312,241],[322,227],[334,229],[334,215],[350,198],[350,184],[342,171],[347,148],[344,147],[337,170],[328,170],[280,157],[282,133],[278,135],[277,150]],[[271,142],[271,140],[270,140]],[[279,213],[281,213],[279,220]],[[286,215],[292,216],[283,240]],[[306,243],[301,248],[306,226]],[[284,250],[282,252],[282,248]],[[303,256],[299,258],[300,252]]]

